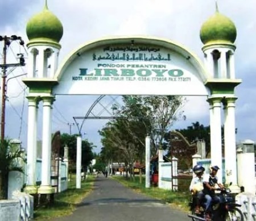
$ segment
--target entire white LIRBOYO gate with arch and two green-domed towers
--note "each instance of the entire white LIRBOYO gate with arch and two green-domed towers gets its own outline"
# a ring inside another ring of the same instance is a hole
[[[38,103],[42,101],[43,177],[38,191],[52,192],[48,166],[51,155],[51,108],[55,96],[60,94],[207,96],[212,164],[222,165],[223,107],[225,151],[229,153],[225,169],[233,171],[229,180],[237,185],[234,124],[234,104],[237,98],[234,88],[241,80],[237,80],[234,74],[236,27],[225,16],[219,15],[216,11],[216,21],[210,20],[201,28],[205,64],[189,49],[174,41],[153,36],[125,36],[90,41],[75,49],[58,68],[61,48],[59,41],[63,35],[63,26],[48,11],[46,3],[43,12],[34,16],[27,24],[30,39],[27,45],[29,62],[27,78],[23,79],[24,84],[29,87],[26,190],[30,193],[36,191],[34,173],[37,111]],[[221,24],[228,24],[228,27],[212,27],[220,19],[224,19]],[[229,33],[224,31],[223,34],[223,30],[228,30]]]

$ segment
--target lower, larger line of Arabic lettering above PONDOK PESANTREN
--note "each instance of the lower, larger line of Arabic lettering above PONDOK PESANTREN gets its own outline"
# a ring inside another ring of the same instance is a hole
[[[104,55],[96,55],[93,53],[92,55],[93,61],[100,60],[110,60],[110,61],[171,61],[170,54],[166,56],[161,55],[160,53],[153,55],[147,53],[105,53]]]

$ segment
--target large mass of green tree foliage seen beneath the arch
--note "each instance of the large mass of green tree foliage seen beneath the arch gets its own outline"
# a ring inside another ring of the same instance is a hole
[[[122,97],[122,106],[113,106],[115,119],[108,122],[101,131],[102,158],[105,163],[125,162],[131,165],[135,160],[144,161],[145,137],[151,136],[155,155],[158,145],[163,145],[163,136],[172,123],[183,116],[180,107],[183,98],[179,96],[137,96]]]

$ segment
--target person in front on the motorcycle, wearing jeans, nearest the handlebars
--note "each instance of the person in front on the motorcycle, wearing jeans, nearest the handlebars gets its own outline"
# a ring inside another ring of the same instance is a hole
[[[205,194],[205,218],[210,218],[210,210],[212,209],[212,202],[218,203],[220,202],[220,198],[215,194],[216,184],[220,188],[224,188],[222,184],[218,182],[218,177],[216,176],[218,166],[212,166],[210,168],[210,176],[204,177],[204,194]]]

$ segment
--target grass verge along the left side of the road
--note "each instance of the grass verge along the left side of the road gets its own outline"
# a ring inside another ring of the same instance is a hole
[[[55,194],[53,205],[39,207],[34,211],[34,220],[46,220],[72,214],[76,205],[90,193],[93,188],[93,176],[88,176],[81,182],[81,189],[76,189],[76,179],[68,183],[68,189]]]

